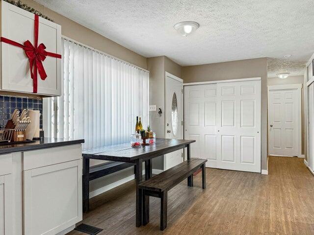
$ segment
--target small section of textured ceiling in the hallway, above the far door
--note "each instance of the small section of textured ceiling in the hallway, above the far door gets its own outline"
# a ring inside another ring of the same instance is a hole
[[[277,77],[280,72],[289,72],[290,76],[303,75],[306,62],[267,58],[267,76]]]

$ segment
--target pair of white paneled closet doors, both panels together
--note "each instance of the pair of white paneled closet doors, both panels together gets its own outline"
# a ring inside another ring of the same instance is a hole
[[[261,80],[184,86],[184,139],[207,167],[261,172]]]

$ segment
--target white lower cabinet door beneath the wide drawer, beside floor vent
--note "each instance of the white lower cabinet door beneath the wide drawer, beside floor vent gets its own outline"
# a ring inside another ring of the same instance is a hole
[[[24,234],[55,235],[82,220],[81,160],[24,171]]]

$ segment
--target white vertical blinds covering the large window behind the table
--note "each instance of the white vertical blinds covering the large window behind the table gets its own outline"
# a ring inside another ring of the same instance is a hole
[[[149,121],[149,72],[66,39],[63,94],[51,99],[51,135],[83,149],[127,142],[135,118]]]

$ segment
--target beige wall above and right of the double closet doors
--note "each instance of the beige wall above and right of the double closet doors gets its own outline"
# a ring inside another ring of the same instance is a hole
[[[262,78],[262,169],[267,169],[267,59],[239,60],[182,69],[184,83],[228,80],[249,77]]]

